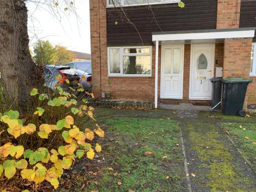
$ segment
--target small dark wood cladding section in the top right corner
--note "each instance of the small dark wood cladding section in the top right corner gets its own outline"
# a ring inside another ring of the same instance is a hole
[[[241,1],[239,27],[256,27],[256,0]],[[256,32],[253,41],[256,41]]]

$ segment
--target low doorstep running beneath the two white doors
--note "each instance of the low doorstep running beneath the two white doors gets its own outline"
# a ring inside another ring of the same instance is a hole
[[[210,106],[193,105],[192,103],[180,103],[179,105],[159,103],[158,107],[166,110],[210,111]]]

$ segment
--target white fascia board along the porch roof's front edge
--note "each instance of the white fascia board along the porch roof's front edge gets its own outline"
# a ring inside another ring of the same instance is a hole
[[[222,38],[243,38],[254,37],[254,30],[245,31],[222,31],[205,33],[176,33],[152,35],[152,41],[157,40],[187,40],[187,39],[222,39]]]

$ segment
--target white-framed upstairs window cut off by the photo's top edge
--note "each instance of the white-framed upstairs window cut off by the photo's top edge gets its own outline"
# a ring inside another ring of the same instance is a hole
[[[178,3],[180,0],[108,0],[108,7]]]

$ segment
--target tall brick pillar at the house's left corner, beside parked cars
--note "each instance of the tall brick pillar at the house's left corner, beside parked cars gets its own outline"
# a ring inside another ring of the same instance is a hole
[[[90,1],[92,82],[95,98],[100,98],[102,81],[100,74],[106,73],[106,0]]]

